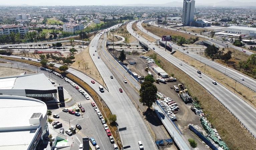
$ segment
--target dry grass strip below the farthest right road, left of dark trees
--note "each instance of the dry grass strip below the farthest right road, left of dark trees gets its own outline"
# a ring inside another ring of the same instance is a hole
[[[174,30],[165,29],[165,28],[160,28],[160,27],[156,27],[153,25],[147,26],[147,24],[145,24],[145,23],[142,23],[142,26],[149,32],[151,32],[157,36],[160,36],[160,37],[162,37],[162,35],[182,36],[185,39],[189,39],[190,37],[192,37],[192,38],[198,37],[198,36],[191,35],[188,33],[183,33],[183,32],[174,31]],[[199,37],[199,41],[200,40],[203,40],[203,38]]]

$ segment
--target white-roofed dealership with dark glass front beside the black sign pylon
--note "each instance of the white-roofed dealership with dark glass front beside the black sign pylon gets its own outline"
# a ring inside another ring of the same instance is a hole
[[[0,78],[0,95],[16,95],[44,102],[56,102],[56,93],[57,89],[43,73]]]

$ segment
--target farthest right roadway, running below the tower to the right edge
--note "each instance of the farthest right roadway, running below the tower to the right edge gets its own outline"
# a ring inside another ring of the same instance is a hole
[[[156,27],[163,27],[163,28],[169,29],[169,30],[179,31],[179,32],[183,32],[183,33],[190,33],[191,35],[196,35],[196,36],[199,36],[199,37],[208,39],[208,40],[213,39],[213,38],[210,38],[210,37],[205,36],[205,35],[203,35],[203,34],[201,35],[201,34],[199,34],[199,33],[193,33],[193,32],[188,32],[188,31],[182,31],[182,30],[177,30],[177,29],[173,29],[173,28],[168,28],[168,27],[165,27],[165,26],[162,26],[162,25],[157,25],[155,22],[156,22],[156,21],[152,21],[152,22],[150,22],[150,24],[152,24],[152,25],[154,25],[154,26],[156,26]],[[211,42],[212,42],[212,43],[220,44],[220,45],[222,45],[222,46],[224,46],[224,47],[227,47],[227,46],[228,46],[228,47],[234,48],[234,49],[236,49],[236,50],[238,50],[238,51],[240,51],[240,52],[246,51],[245,54],[247,54],[247,55],[255,54],[254,52],[249,51],[248,49],[244,49],[244,48],[241,48],[241,47],[237,47],[237,46],[234,46],[234,45],[232,45],[232,44],[230,44],[230,43],[226,43],[226,42],[222,43],[221,41],[216,40],[216,39],[211,40]]]

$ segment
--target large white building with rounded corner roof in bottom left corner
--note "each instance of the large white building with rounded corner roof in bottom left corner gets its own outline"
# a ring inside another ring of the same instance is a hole
[[[44,102],[22,96],[0,95],[2,120],[0,149],[41,149],[49,135],[47,106]]]

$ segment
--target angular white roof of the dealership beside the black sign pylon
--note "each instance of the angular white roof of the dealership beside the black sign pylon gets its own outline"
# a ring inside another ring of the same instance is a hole
[[[0,89],[56,90],[43,73],[0,77]]]

